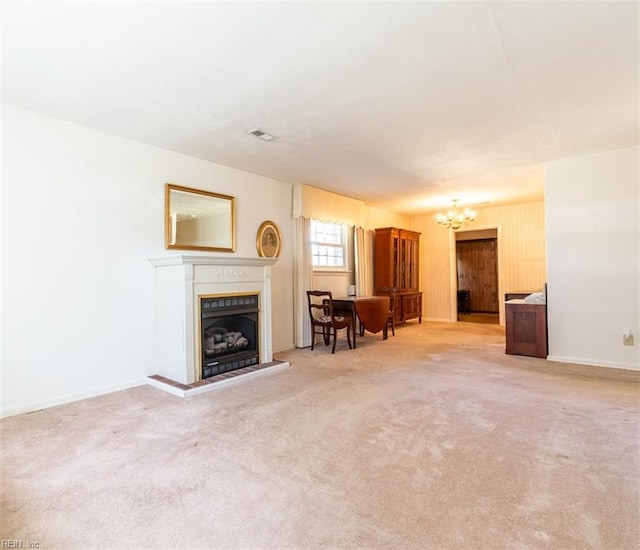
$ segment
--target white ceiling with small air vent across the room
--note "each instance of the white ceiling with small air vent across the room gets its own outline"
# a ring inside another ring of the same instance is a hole
[[[2,92],[419,213],[541,198],[542,163],[637,145],[638,37],[635,2],[3,2]]]

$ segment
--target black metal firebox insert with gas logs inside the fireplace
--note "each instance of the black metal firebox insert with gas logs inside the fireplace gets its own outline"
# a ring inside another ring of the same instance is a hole
[[[200,298],[202,378],[259,362],[258,295]]]

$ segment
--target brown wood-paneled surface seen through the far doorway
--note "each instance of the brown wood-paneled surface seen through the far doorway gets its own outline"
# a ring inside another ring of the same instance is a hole
[[[471,311],[497,313],[498,240],[458,241],[456,259],[458,289],[469,291]]]

